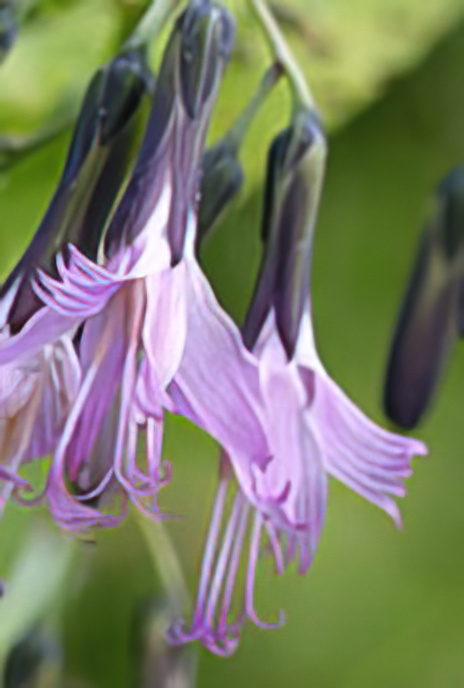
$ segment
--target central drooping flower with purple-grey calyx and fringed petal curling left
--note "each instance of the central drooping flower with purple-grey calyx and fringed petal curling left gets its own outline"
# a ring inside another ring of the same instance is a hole
[[[64,528],[117,523],[124,508],[113,516],[105,507],[118,494],[123,507],[129,497],[159,514],[157,492],[169,477],[160,459],[170,405],[164,390],[182,356],[192,304],[210,308],[211,329],[224,327],[214,297],[203,304],[208,286],[193,249],[204,138],[232,36],[227,13],[191,3],[163,58],[144,142],[106,233],[104,265],[69,245],[56,258],[57,277],[38,272],[33,286],[44,307],[0,347],[0,361],[8,361],[63,332],[78,338],[81,385],[46,490]],[[145,466],[136,452],[140,430]]]

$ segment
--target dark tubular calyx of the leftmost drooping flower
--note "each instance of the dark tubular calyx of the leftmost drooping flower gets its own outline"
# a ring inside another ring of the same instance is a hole
[[[12,331],[40,305],[29,277],[41,267],[53,274],[54,256],[72,241],[95,258],[108,215],[125,179],[141,124],[142,96],[149,86],[141,53],[116,57],[92,79],[82,104],[58,187],[23,257],[4,283]]]

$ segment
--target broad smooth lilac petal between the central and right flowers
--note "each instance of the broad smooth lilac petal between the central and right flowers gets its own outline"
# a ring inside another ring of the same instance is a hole
[[[168,390],[174,411],[209,432],[248,470],[251,462],[264,468],[269,450],[257,361],[193,260],[186,281],[187,337]]]

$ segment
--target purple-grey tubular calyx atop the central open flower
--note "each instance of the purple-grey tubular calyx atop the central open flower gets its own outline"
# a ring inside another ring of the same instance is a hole
[[[132,179],[108,229],[108,257],[143,232],[168,190],[172,264],[182,258],[187,219],[196,211],[206,129],[233,35],[230,15],[209,0],[194,0],[179,18],[163,56]]]

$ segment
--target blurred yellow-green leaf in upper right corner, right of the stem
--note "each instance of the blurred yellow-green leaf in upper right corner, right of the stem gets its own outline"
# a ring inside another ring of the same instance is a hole
[[[392,76],[418,64],[464,16],[462,0],[283,0],[281,5],[294,18],[288,33],[325,119],[335,124],[381,95]]]

